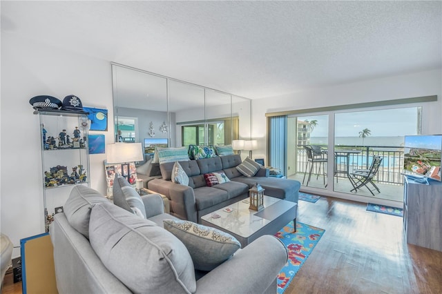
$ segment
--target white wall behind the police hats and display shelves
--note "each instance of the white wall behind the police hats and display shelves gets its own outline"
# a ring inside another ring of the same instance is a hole
[[[81,44],[73,43],[73,46]],[[77,95],[84,106],[108,109],[106,143],[113,142],[109,61],[75,55],[1,33],[1,233],[14,246],[44,233],[39,116],[29,99]],[[106,193],[104,154],[90,155],[90,186]],[[19,256],[19,248],[13,257]]]

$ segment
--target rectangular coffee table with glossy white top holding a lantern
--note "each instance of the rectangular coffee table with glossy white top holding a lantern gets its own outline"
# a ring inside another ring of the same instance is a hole
[[[247,198],[203,215],[201,224],[233,235],[244,248],[262,235],[276,234],[291,221],[294,221],[296,230],[296,206],[294,202],[264,196],[262,210],[249,210]]]

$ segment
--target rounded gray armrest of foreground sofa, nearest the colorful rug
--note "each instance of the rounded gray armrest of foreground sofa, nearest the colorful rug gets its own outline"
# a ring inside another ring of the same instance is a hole
[[[264,235],[198,280],[196,293],[276,293],[276,277],[287,259],[282,242]]]

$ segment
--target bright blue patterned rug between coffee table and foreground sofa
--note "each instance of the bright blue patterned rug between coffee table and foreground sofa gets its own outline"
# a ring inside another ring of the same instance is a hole
[[[324,232],[322,228],[298,222],[296,233],[293,233],[293,222],[289,222],[276,233],[275,236],[285,244],[289,251],[289,260],[278,275],[278,293],[284,293],[291,279],[298,273],[305,259],[318,244],[320,237],[323,237]]]

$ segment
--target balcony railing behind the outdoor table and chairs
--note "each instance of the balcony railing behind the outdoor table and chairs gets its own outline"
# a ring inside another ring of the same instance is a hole
[[[327,149],[327,146],[321,146]],[[368,169],[372,164],[375,155],[380,156],[383,161],[381,167],[374,177],[376,182],[384,184],[403,184],[403,147],[398,146],[335,146],[335,152],[339,150],[361,150],[361,153],[349,154],[349,173],[355,169]],[[325,154],[325,156],[329,155]],[[334,157],[334,170],[347,170],[346,158]],[[307,154],[302,145],[298,145],[296,170],[304,173],[307,166]],[[314,165],[312,173],[318,173],[318,165]],[[345,173],[335,173],[335,177],[346,177]]]

